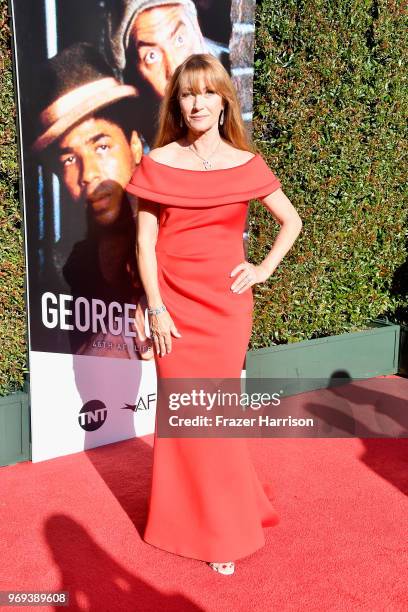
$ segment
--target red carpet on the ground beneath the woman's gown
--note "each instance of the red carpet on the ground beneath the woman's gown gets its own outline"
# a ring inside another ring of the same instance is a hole
[[[408,409],[408,380],[389,390],[366,403]],[[233,576],[141,540],[151,446],[133,439],[0,469],[0,590],[66,590],[69,610],[98,612],[407,611],[408,439],[249,444],[281,520]]]

